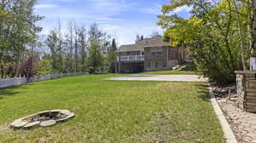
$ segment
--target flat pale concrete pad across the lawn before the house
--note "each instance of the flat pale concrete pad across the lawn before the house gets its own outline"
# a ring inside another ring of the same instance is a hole
[[[117,81],[169,81],[169,82],[207,82],[207,78],[197,75],[132,75],[125,77],[111,77],[108,80]]]

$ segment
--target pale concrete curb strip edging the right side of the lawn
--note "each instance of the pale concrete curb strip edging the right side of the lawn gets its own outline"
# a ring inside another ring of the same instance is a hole
[[[218,106],[218,102],[212,92],[212,87],[209,85],[209,94],[212,102],[213,110],[218,117],[218,122],[220,123],[221,128],[224,131],[224,138],[226,143],[237,143],[236,136],[232,129],[230,128],[230,124],[228,123],[226,117],[224,117],[224,113],[222,112],[221,108]]]

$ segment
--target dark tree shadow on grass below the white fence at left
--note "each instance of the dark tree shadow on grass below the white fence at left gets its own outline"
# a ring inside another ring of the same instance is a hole
[[[14,96],[20,92],[15,91],[15,89],[24,89],[24,86],[16,85],[8,88],[0,89],[0,100],[3,100],[4,96]]]

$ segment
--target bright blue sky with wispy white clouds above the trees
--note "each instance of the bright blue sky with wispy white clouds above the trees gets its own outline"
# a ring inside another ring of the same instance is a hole
[[[39,23],[43,34],[52,30],[58,20],[63,27],[69,20],[86,27],[96,22],[120,45],[134,43],[137,34],[148,37],[153,31],[162,33],[156,25],[157,14],[167,3],[169,0],[38,0],[35,12],[45,16]],[[174,13],[189,17],[189,8],[178,8]]]

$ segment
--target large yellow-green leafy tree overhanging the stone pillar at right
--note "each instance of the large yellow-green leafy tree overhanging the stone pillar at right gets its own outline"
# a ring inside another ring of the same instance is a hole
[[[190,1],[181,0],[163,6],[158,24],[165,29],[166,40],[170,40],[173,46],[185,43],[198,70],[212,81],[219,84],[234,83],[234,71],[242,69],[242,58],[248,61],[252,55],[248,40],[247,27],[251,21],[247,3],[239,4],[240,21],[236,19],[235,3],[229,0],[218,3],[195,0],[192,16],[187,20],[170,14],[177,7],[189,4]],[[241,41],[244,42],[242,47]]]

